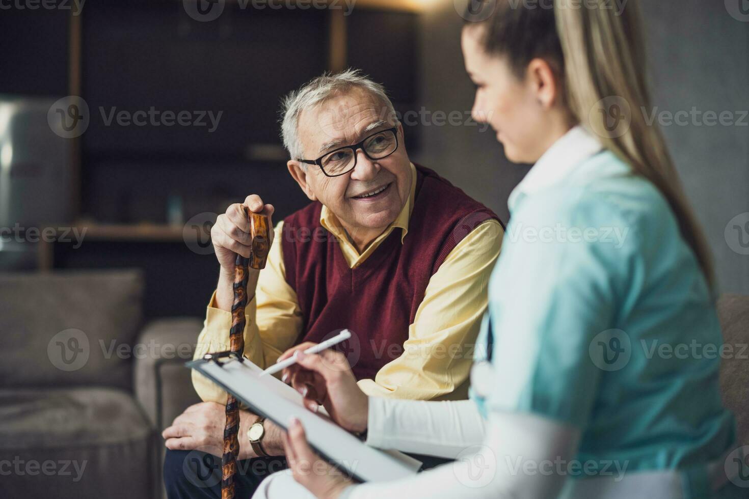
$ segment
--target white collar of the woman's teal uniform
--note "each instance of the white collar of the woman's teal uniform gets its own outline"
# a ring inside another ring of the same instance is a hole
[[[531,195],[554,186],[601,149],[601,143],[586,129],[580,125],[574,126],[549,147],[521,183],[512,190],[507,200],[510,211],[512,212],[522,195]]]

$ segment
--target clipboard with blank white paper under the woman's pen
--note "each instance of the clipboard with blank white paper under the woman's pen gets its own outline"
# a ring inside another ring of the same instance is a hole
[[[310,447],[333,465],[360,482],[386,482],[413,476],[422,462],[397,450],[369,447],[328,417],[303,405],[303,397],[275,376],[260,376],[262,370],[234,352],[206,354],[185,363],[228,393],[250,411],[266,417],[283,429],[297,417],[304,426]],[[243,435],[240,435],[243,438]],[[246,438],[246,437],[245,437]]]

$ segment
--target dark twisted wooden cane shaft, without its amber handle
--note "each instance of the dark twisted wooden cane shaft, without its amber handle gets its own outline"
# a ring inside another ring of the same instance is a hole
[[[234,303],[231,305],[231,330],[229,344],[231,352],[244,354],[244,307],[247,304],[247,266],[249,258],[237,255],[234,263]],[[239,455],[239,402],[228,396],[226,400],[226,426],[224,427],[224,450],[221,458],[221,498],[233,499]]]

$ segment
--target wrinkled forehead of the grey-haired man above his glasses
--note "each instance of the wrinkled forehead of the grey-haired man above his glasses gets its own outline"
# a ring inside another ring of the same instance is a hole
[[[377,96],[354,88],[302,111],[298,134],[306,155],[316,157],[330,147],[357,143],[374,124],[394,123],[393,118]]]

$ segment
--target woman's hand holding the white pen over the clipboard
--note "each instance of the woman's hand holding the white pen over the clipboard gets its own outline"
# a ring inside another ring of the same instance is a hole
[[[303,350],[312,344],[303,343],[294,348],[297,364],[283,370],[282,379],[291,382],[302,394],[309,410],[317,411],[318,405],[322,405],[342,428],[363,432],[367,429],[369,399],[357,385],[345,355],[333,350],[305,354]],[[293,353],[285,352],[281,357],[287,358]]]

